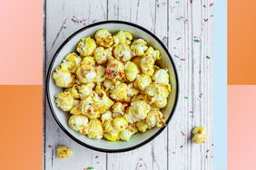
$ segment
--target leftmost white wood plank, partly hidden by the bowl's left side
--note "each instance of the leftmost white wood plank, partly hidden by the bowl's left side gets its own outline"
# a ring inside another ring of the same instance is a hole
[[[46,1],[46,65],[49,66],[57,48],[76,30],[84,25],[106,19],[106,1],[102,0],[47,0]],[[75,22],[79,20],[81,22]],[[47,105],[46,105],[47,106]],[[45,127],[45,169],[106,169],[106,154],[95,152],[75,143],[58,127],[48,106],[46,107]],[[55,148],[58,145],[69,146],[74,156],[57,159]]]

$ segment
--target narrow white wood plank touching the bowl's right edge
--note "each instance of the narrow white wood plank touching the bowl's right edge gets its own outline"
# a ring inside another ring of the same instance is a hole
[[[189,169],[187,165],[187,142],[188,137],[182,136],[182,132],[188,134],[187,130],[187,114],[188,101],[184,96],[188,96],[187,91],[190,84],[188,84],[188,62],[181,61],[188,56],[188,35],[187,28],[183,20],[187,18],[187,10],[185,1],[169,1],[169,52],[172,53],[172,59],[176,63],[179,80],[180,80],[180,97],[177,109],[169,125],[169,143],[168,143],[168,159],[169,169],[181,170]],[[186,59],[188,60],[188,59]]]

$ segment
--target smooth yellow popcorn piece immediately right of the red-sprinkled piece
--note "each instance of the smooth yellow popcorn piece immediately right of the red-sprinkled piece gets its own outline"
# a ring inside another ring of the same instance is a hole
[[[129,80],[129,81],[135,80],[137,75],[140,73],[137,65],[132,61],[128,61],[125,64],[124,72],[125,72],[125,76],[126,76],[127,80]]]

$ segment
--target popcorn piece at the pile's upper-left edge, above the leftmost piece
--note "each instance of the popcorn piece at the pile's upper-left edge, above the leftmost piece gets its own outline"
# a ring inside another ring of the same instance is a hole
[[[68,53],[65,56],[64,61],[61,64],[61,67],[74,73],[81,61],[82,59],[75,52]]]

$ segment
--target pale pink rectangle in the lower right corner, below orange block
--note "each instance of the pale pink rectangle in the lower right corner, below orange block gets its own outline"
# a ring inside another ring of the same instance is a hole
[[[256,85],[229,85],[228,167],[255,170]]]

